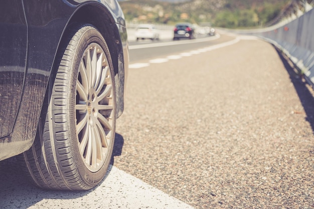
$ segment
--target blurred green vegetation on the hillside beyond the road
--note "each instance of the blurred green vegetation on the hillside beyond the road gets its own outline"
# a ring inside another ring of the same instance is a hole
[[[191,0],[185,3],[129,0],[120,2],[125,19],[135,23],[211,23],[224,28],[264,26],[289,0]]]

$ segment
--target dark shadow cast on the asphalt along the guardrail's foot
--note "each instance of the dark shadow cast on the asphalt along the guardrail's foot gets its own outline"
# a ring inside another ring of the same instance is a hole
[[[311,92],[312,89],[308,87],[305,79],[303,79],[303,77],[294,68],[292,62],[289,61],[289,59],[285,57],[285,55],[283,55],[277,48],[276,50],[290,76],[290,80],[305,111],[305,119],[309,122],[314,134],[314,94]]]

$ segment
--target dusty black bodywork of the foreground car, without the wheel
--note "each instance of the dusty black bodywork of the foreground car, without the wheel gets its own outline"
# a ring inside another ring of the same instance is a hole
[[[0,26],[8,28],[0,35],[0,74],[7,74],[0,80],[0,105],[7,107],[0,111],[0,160],[31,147],[60,41],[74,22],[97,25],[108,42],[114,62],[117,112],[121,115],[128,43],[124,16],[115,0],[5,0],[0,8]],[[7,16],[9,11],[16,13],[15,19]],[[94,16],[85,17],[85,13]],[[16,36],[10,37],[12,31]],[[16,41],[8,44],[6,40],[11,39]],[[16,63],[8,61],[12,56],[19,58]]]

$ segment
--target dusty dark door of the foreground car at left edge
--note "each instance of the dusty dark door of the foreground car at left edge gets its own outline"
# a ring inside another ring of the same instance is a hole
[[[21,0],[0,7],[0,138],[10,135],[19,110],[27,57],[27,24]]]

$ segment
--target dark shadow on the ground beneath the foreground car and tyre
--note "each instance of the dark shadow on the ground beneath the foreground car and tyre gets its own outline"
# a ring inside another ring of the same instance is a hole
[[[26,209],[43,199],[77,199],[93,192],[110,174],[114,156],[121,155],[123,143],[124,139],[122,135],[116,133],[113,153],[107,173],[95,188],[88,191],[57,191],[38,188],[28,181],[28,178],[21,171],[20,163],[16,157],[0,161],[0,207],[2,209]],[[52,208],[54,208],[53,205]]]

